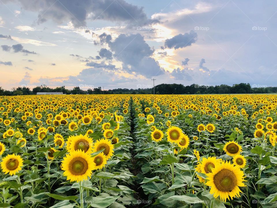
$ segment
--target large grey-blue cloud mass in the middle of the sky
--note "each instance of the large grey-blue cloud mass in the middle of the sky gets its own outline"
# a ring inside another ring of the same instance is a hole
[[[123,69],[127,72],[135,72],[147,78],[164,74],[151,55],[154,50],[149,47],[141,34],[120,34],[113,42],[108,41],[114,57],[123,62]]]

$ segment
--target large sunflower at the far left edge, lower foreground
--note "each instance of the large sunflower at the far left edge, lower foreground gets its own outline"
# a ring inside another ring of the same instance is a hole
[[[1,162],[1,168],[5,174],[14,175],[22,169],[23,159],[19,155],[7,155]]]

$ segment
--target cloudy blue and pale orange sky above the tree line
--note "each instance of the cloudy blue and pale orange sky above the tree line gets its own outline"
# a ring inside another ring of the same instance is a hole
[[[277,1],[0,0],[0,86],[277,86]]]

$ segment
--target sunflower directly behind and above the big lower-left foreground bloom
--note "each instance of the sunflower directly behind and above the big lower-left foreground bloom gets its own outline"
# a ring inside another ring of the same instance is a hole
[[[92,139],[85,135],[77,135],[71,137],[70,147],[68,149],[69,152],[81,150],[86,154],[90,154],[92,151]]]

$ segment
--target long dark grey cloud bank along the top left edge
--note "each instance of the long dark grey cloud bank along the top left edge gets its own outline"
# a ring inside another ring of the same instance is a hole
[[[17,0],[17,2],[25,10],[38,12],[36,21],[38,24],[44,23],[48,19],[57,23],[71,21],[75,27],[86,25],[87,19],[125,22],[128,25],[159,22],[158,20],[149,20],[142,7],[132,5],[124,0],[41,0],[32,3],[26,0]]]

